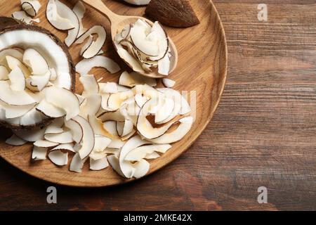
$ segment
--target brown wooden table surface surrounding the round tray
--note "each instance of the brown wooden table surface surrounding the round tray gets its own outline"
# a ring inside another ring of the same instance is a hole
[[[316,210],[316,1],[213,2],[228,40],[228,82],[192,148],[124,186],[56,186],[51,205],[52,184],[0,160],[0,210]],[[262,3],[268,22],[257,18]],[[260,186],[267,204],[257,202]]]

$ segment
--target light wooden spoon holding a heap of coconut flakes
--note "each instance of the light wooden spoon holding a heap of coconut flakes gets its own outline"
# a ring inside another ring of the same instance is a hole
[[[84,2],[85,4],[87,4],[88,6],[91,6],[99,13],[105,15],[107,17],[107,19],[110,20],[111,37],[112,37],[113,42],[114,42],[115,35],[117,34],[117,32],[121,32],[121,30],[123,30],[123,28],[126,25],[131,25],[131,24],[135,23],[136,20],[138,20],[138,19],[145,20],[150,25],[154,24],[154,23],[152,23],[152,21],[147,20],[146,18],[143,18],[140,16],[117,15],[117,14],[113,13],[112,11],[110,11],[110,9],[107,8],[107,6],[105,6],[103,1],[101,1],[101,0],[81,0],[81,1]],[[169,74],[170,74],[171,72],[173,72],[173,70],[176,69],[176,66],[178,63],[178,51],[176,49],[175,44],[170,39],[170,37],[169,37],[169,48],[171,50],[170,70],[169,70]],[[138,72],[138,73],[140,73],[140,72]],[[152,72],[141,72],[140,74],[143,76],[146,76],[146,77],[153,77],[153,78],[166,77],[164,75],[159,75],[158,70],[153,70]]]

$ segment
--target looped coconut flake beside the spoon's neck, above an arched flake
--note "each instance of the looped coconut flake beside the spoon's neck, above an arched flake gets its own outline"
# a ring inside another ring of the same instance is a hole
[[[93,39],[91,39],[91,36],[93,34],[98,35],[96,41],[93,41]],[[105,28],[103,26],[96,25],[94,27],[91,27],[84,34],[78,37],[77,41],[75,41],[74,43],[82,44],[87,38],[89,38],[87,42],[88,47],[84,46],[84,49],[81,49],[82,57],[93,58],[93,56],[98,55],[103,45],[105,44],[105,40],[107,39],[107,32],[105,31]]]

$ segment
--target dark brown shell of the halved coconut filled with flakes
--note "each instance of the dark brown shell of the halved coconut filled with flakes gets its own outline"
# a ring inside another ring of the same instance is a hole
[[[69,63],[69,67],[70,67],[70,75],[72,76],[72,86],[71,86],[70,90],[72,92],[75,91],[76,68],[74,66],[72,56],[70,56],[70,53],[68,51],[67,46],[65,44],[63,44],[62,41],[60,41],[60,39],[58,39],[58,37],[56,37],[54,34],[52,34],[51,32],[49,32],[48,30],[46,30],[42,27],[18,23],[13,18],[0,17],[0,35],[5,33],[5,32],[12,31],[12,30],[33,30],[35,32],[41,32],[41,33],[47,34],[49,37],[51,37],[51,39],[53,39],[53,41],[55,41],[55,43],[58,44],[58,46],[60,46],[62,48],[62,50],[65,52],[65,54],[67,55],[68,63]],[[52,118],[48,118],[48,119],[45,119],[41,122],[38,122],[37,124],[32,124],[32,125],[28,125],[28,126],[21,126],[21,125],[16,125],[16,124],[9,124],[8,122],[6,122],[4,120],[0,120],[0,127],[6,127],[6,128],[9,128],[9,129],[12,129],[15,131],[21,130],[21,129],[37,129],[39,127],[44,127],[44,126],[50,124],[52,121],[53,121]]]

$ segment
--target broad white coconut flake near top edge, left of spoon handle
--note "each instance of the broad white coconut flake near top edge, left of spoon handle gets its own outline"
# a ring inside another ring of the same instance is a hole
[[[58,0],[49,0],[46,8],[46,18],[53,27],[58,30],[72,30],[75,25],[68,18],[71,9],[64,4],[58,4]]]

